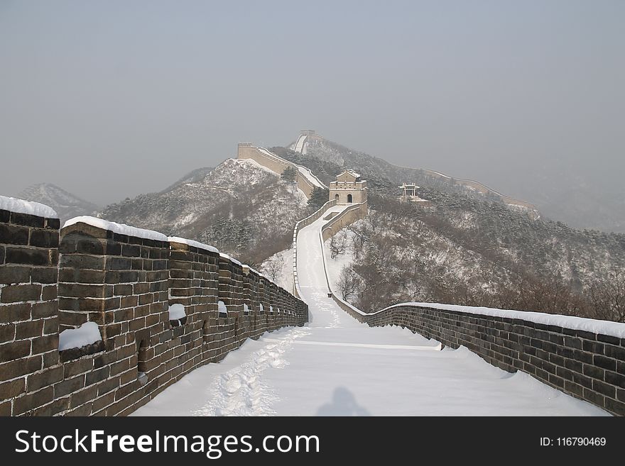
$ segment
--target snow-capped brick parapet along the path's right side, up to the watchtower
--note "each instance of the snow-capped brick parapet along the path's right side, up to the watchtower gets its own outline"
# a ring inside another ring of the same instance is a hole
[[[320,242],[359,219],[350,206],[322,226]],[[322,213],[317,216],[319,218]],[[460,345],[491,365],[518,370],[566,394],[625,416],[625,324],[526,311],[402,303],[366,314],[332,289],[337,305],[371,327],[401,326],[442,345]]]

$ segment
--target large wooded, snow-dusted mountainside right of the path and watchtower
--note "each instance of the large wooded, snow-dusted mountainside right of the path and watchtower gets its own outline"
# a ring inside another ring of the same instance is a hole
[[[575,229],[479,184],[401,169],[318,136],[272,150],[323,182],[344,167],[367,179],[369,216],[329,240],[346,256],[330,259],[331,268],[346,266],[337,289],[364,311],[428,301],[625,321],[624,234]],[[428,204],[398,199],[408,180]]]

